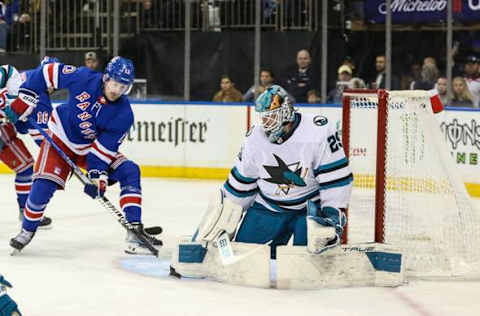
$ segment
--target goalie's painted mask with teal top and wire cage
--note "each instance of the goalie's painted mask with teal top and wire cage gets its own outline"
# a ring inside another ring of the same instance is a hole
[[[278,85],[265,90],[255,102],[259,125],[272,143],[284,134],[284,126],[295,119],[295,111],[287,92]]]

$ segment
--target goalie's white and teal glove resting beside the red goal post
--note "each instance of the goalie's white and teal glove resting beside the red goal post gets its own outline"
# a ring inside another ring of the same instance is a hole
[[[334,207],[325,206],[321,210],[312,201],[307,202],[307,249],[311,253],[321,253],[340,243],[345,214]]]

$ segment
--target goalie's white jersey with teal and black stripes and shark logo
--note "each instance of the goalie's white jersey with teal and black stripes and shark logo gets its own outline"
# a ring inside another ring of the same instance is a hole
[[[295,114],[293,134],[282,144],[252,127],[224,184],[245,208],[257,202],[274,212],[300,211],[308,200],[346,208],[353,176],[338,131],[323,116]]]

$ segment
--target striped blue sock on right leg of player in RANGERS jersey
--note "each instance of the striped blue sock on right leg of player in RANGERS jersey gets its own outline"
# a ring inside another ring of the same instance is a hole
[[[140,168],[131,160],[126,160],[110,175],[120,182],[120,207],[128,222],[141,222],[142,188],[140,186]]]

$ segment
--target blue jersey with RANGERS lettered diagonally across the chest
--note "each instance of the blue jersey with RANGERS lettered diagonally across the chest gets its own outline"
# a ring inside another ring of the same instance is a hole
[[[108,101],[102,77],[86,67],[51,63],[35,69],[21,86],[36,93],[69,90],[68,102],[53,109],[48,128],[75,154],[87,156],[88,170],[107,170],[133,124],[128,98]]]

